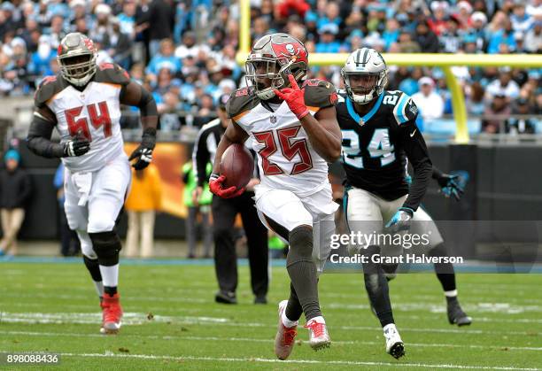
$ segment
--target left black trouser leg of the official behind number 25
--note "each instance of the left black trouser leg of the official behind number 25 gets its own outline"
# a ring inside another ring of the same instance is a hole
[[[217,303],[236,304],[237,255],[234,240],[236,206],[232,199],[213,196],[214,270],[219,291]]]

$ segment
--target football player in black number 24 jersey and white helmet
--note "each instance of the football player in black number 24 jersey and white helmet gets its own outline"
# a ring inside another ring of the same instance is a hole
[[[445,255],[437,227],[419,208],[431,176],[444,182],[445,174],[433,171],[425,141],[416,127],[416,105],[402,91],[384,90],[387,67],[376,50],[353,51],[341,74],[345,94],[339,95],[337,121],[343,134],[345,214],[349,228],[366,235],[379,234],[384,228],[427,234],[431,253]],[[410,185],[406,182],[407,160],[414,168]],[[357,246],[360,250],[356,252],[370,257],[380,254],[381,247]],[[470,318],[457,300],[452,264],[438,266],[435,269],[445,290],[450,322],[469,324]],[[368,259],[363,269],[369,300],[383,326],[386,352],[399,358],[405,350],[391,312],[385,267]]]

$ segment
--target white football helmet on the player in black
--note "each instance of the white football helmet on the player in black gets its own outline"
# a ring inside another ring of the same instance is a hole
[[[357,104],[368,104],[380,96],[388,83],[388,68],[374,49],[354,50],[341,69],[348,97]]]

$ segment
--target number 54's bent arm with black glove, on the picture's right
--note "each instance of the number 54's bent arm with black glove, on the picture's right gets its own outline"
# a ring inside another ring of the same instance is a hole
[[[151,93],[135,81],[129,81],[120,91],[120,104],[136,106],[141,112],[143,136],[141,144],[130,155],[130,160],[137,159],[133,165],[136,170],[149,166],[152,151],[156,145],[156,128],[158,125],[158,110]]]

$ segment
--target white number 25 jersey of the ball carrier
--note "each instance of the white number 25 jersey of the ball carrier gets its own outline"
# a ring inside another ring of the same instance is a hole
[[[307,80],[301,86],[305,104],[314,116],[337,103],[337,93],[328,81]],[[305,129],[288,104],[260,100],[252,88],[237,89],[226,105],[228,116],[252,139],[258,153],[261,186],[285,189],[307,196],[323,189],[328,181],[328,163],[310,143]]]

